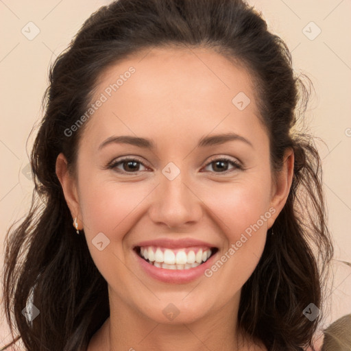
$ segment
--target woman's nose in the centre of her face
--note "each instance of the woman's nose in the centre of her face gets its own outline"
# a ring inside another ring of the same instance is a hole
[[[202,201],[194,186],[186,183],[189,182],[182,177],[182,172],[173,180],[161,176],[149,208],[149,217],[155,224],[177,230],[201,221]]]

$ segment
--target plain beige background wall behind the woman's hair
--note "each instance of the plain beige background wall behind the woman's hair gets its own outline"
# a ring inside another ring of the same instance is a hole
[[[29,206],[32,180],[25,175],[33,138],[26,141],[41,117],[40,103],[51,62],[70,42],[83,21],[109,1],[0,0],[1,118],[0,118],[0,268],[3,238],[12,221]],[[296,71],[307,73],[315,86],[308,107],[311,132],[324,170],[329,224],[335,258],[351,261],[351,49],[350,0],[252,0],[270,29],[293,53]],[[38,36],[29,40],[35,27]],[[311,24],[313,21],[315,24]],[[30,33],[29,29],[30,27]],[[304,29],[305,28],[305,29]],[[319,36],[313,39],[319,29]],[[309,36],[309,38],[308,38]],[[311,40],[313,39],[313,40]],[[297,253],[298,257],[298,253]],[[335,285],[328,321],[351,313],[351,267],[335,261]],[[0,347],[10,338],[0,314]],[[1,325],[2,324],[2,325]]]

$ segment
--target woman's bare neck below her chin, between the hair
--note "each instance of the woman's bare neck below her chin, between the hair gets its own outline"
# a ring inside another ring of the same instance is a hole
[[[114,296],[110,298],[110,317],[91,339],[88,351],[252,350],[237,331],[237,308],[232,306],[239,306],[239,297],[237,303],[230,300],[221,311],[195,322],[160,324]]]

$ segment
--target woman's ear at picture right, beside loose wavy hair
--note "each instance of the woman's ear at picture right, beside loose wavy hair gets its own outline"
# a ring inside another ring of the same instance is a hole
[[[283,157],[282,169],[277,175],[275,184],[272,186],[270,206],[275,208],[276,212],[274,213],[274,216],[268,220],[268,228],[273,226],[276,217],[278,217],[280,211],[287,202],[291,183],[293,182],[294,159],[293,149],[287,149]]]

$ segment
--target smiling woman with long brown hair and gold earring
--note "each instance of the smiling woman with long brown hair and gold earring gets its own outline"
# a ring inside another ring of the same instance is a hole
[[[27,350],[313,349],[333,248],[308,89],[253,8],[111,3],[46,96],[43,206],[5,252]]]

